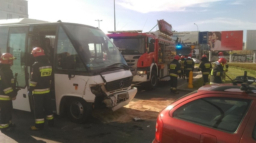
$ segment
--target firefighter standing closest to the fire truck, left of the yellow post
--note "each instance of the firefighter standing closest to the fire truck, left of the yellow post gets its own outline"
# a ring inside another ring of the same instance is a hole
[[[177,85],[178,85],[178,76],[181,78],[181,68],[178,60],[180,59],[180,56],[176,55],[172,62],[169,64],[169,76],[170,76],[170,83],[171,83],[171,92],[174,94],[179,94],[177,91]]]

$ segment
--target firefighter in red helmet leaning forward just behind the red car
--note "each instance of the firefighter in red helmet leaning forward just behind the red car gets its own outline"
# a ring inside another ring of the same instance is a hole
[[[214,63],[215,66],[212,68],[210,84],[223,83],[221,81],[221,76],[224,74],[223,67],[227,63],[227,60],[225,58],[220,58]]]

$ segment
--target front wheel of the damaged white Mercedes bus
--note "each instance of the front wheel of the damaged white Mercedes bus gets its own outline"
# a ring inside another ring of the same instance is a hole
[[[68,102],[67,112],[72,122],[82,124],[91,117],[92,105],[82,98],[72,98]]]

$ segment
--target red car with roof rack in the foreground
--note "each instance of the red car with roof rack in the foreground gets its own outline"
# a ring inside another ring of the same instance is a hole
[[[255,123],[256,85],[205,85],[160,112],[152,143],[256,143]]]

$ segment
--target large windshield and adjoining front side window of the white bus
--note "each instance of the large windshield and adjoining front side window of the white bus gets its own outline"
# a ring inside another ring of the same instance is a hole
[[[111,40],[98,28],[64,24],[63,33],[64,31],[67,34],[61,33],[62,28],[59,30],[58,43],[62,45],[59,53],[65,53],[69,59],[75,59],[75,69],[94,74],[107,67],[109,70],[114,69],[109,68],[112,65],[115,68],[127,68],[120,66],[127,65],[126,61]],[[75,49],[75,52],[72,49]],[[79,58],[76,55],[79,55]]]

